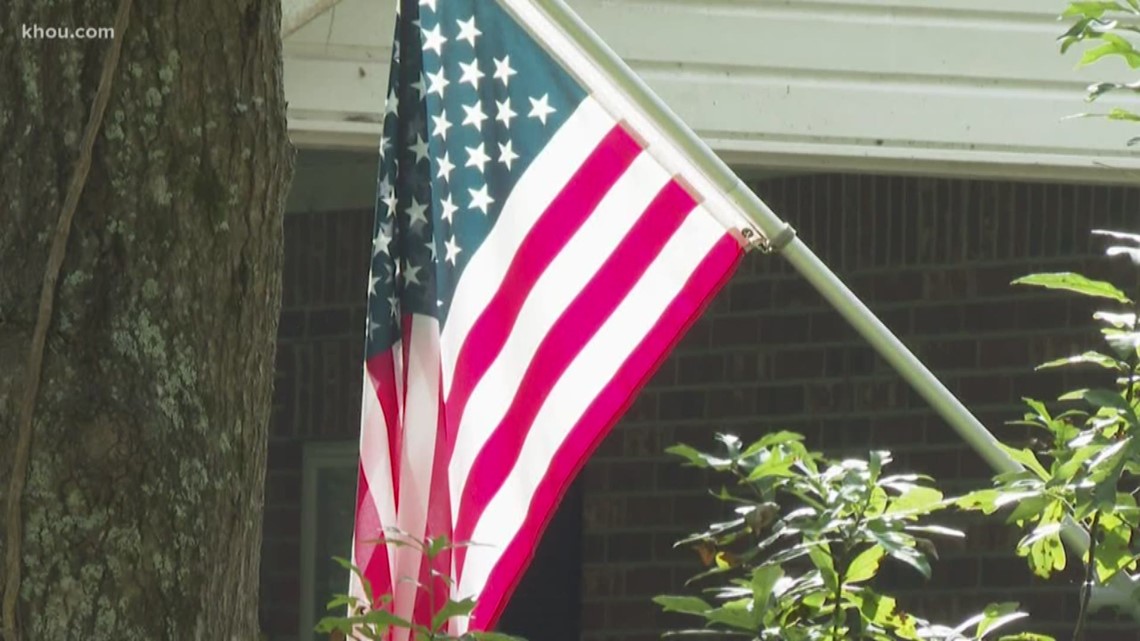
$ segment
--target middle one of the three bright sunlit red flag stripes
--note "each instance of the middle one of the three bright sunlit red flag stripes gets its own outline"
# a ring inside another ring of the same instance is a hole
[[[554,384],[591,338],[629,294],[697,203],[675,181],[661,188],[625,238],[575,297],[543,339],[518,392],[467,474],[455,535],[471,538],[475,524],[519,459],[527,433]],[[465,551],[457,554],[463,575]]]

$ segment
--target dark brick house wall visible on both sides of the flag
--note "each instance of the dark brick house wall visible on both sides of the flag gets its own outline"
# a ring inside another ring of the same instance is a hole
[[[1108,275],[1089,229],[1140,220],[1140,190],[1114,187],[840,173],[755,187],[986,425],[1015,438],[1001,423],[1018,417],[1019,397],[1080,382],[1032,367],[1094,338],[1088,305],[1009,282],[1041,269]],[[357,438],[370,212],[291,214],[285,234],[261,585],[272,641],[295,639],[299,627],[303,448]],[[898,469],[951,489],[988,474],[780,257],[750,255],[583,472],[583,641],[650,641],[678,623],[650,598],[682,590],[697,571],[697,557],[671,544],[715,516],[715,504],[708,479],[663,449],[707,446],[718,430],[768,429],[801,431],[832,453],[888,448]],[[1009,529],[963,525],[964,545],[939,546],[934,582],[888,577],[905,607],[953,618],[1021,600],[1045,631],[1075,615],[1072,584],[1032,579],[1010,552]],[[1090,639],[1124,641],[1133,627],[1100,627]]]

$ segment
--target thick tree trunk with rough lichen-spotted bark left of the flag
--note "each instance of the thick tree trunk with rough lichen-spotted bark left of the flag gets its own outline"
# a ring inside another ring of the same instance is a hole
[[[44,266],[112,43],[22,29],[106,27],[117,7],[0,1],[0,537]],[[293,165],[279,21],[277,0],[137,0],[119,34],[35,405],[24,641],[258,638]]]

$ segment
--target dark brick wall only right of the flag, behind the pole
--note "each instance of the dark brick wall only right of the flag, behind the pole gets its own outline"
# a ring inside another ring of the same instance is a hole
[[[1067,269],[1135,281],[1134,268],[1106,269],[1089,236],[1135,229],[1135,189],[850,175],[756,188],[1004,438],[1026,436],[1003,425],[1020,417],[1020,397],[1052,399],[1083,381],[1033,366],[1099,342],[1094,307],[1010,281]],[[649,600],[700,569],[693,552],[671,544],[714,519],[718,505],[706,476],[662,451],[678,441],[711,446],[717,431],[756,438],[775,429],[803,432],[831,453],[890,449],[896,470],[929,473],[950,492],[983,487],[990,476],[787,262],[752,255],[583,472],[584,641],[650,641],[678,623]],[[930,583],[888,570],[905,594],[901,606],[950,623],[1017,600],[1034,630],[1068,638],[1077,579],[1034,579],[1011,553],[1018,536],[996,520],[958,525],[967,539],[938,543]],[[1090,638],[1124,641],[1134,631],[1127,623]]]

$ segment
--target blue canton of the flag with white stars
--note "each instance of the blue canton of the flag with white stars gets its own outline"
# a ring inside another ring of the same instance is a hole
[[[497,2],[405,1],[396,32],[368,355],[399,340],[398,310],[445,322],[455,283],[506,194],[586,96]]]

